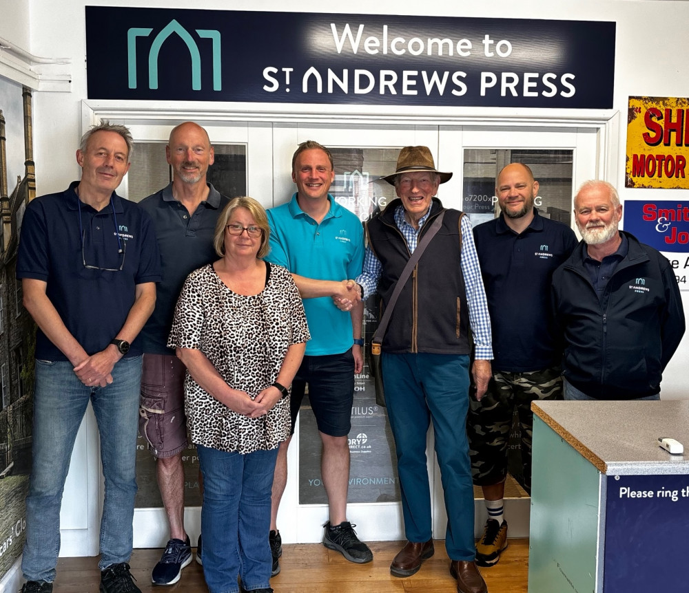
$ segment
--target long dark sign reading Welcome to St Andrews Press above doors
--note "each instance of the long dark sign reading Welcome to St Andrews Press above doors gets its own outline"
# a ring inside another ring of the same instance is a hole
[[[613,106],[612,22],[85,10],[90,99]]]

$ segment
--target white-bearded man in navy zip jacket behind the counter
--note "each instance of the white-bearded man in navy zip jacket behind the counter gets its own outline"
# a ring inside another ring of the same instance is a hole
[[[607,182],[574,201],[583,240],[553,274],[564,338],[566,400],[658,400],[662,373],[685,331],[670,262],[617,229],[622,206]]]

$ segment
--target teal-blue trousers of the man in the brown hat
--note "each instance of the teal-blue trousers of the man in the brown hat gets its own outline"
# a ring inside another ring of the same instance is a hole
[[[415,542],[433,535],[426,468],[426,433],[433,420],[447,512],[445,548],[451,560],[473,561],[474,499],[466,438],[469,356],[383,352],[382,376],[397,449],[405,535]]]

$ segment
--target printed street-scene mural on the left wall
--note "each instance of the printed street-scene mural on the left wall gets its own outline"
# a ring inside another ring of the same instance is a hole
[[[21,216],[36,192],[33,155],[24,140],[30,105],[30,89],[0,76],[0,193],[9,222],[0,260],[0,581],[25,541],[31,470],[36,326],[21,304],[15,274]]]

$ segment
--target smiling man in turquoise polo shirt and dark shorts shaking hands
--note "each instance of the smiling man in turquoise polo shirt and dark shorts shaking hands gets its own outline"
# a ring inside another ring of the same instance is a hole
[[[292,181],[297,191],[290,202],[268,211],[271,251],[267,259],[292,272],[302,297],[307,299],[304,308],[311,341],[294,380],[291,416],[294,431],[303,386],[308,383],[309,401],[323,443],[321,472],[330,512],[323,543],[342,552],[349,561],[366,563],[373,554],[347,521],[347,435],[351,429],[354,373],[363,367],[363,305],[358,302],[351,312],[342,312],[330,298],[335,282],[361,273],[364,237],[359,219],[329,195],[333,180],[330,151],[312,140],[302,142],[292,158]],[[342,296],[347,297],[346,290]],[[351,295],[349,299],[358,301]],[[270,543],[274,574],[280,570],[278,557],[282,552],[276,517],[287,482],[288,446],[289,440],[280,445],[273,483]]]

